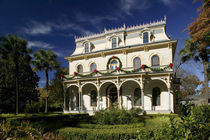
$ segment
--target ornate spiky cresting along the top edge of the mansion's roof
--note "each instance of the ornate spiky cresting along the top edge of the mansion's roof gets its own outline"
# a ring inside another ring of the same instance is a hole
[[[112,33],[116,33],[116,32],[134,31],[134,30],[150,28],[153,26],[165,25],[165,24],[166,24],[166,17],[164,17],[164,19],[163,20],[161,19],[160,21],[157,20],[157,21],[153,21],[150,23],[128,26],[128,27],[126,27],[126,25],[124,24],[122,27],[113,28],[113,29],[109,29],[109,30],[104,29],[104,31],[101,33],[96,33],[96,34],[81,36],[81,37],[75,36],[75,42],[80,42],[80,41],[89,40],[89,39],[95,39],[95,38],[103,37],[103,36],[106,36],[107,34],[112,34]]]

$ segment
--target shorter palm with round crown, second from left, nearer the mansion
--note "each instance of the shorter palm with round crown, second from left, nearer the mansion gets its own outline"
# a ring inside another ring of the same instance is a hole
[[[48,79],[48,72],[52,71],[53,69],[59,68],[59,62],[56,60],[57,56],[51,51],[39,50],[37,53],[34,54],[34,61],[33,65],[34,70],[42,71],[44,70],[46,76],[46,90],[48,93],[49,87],[49,79]],[[48,104],[48,97],[45,98],[45,112],[47,112],[47,104]]]

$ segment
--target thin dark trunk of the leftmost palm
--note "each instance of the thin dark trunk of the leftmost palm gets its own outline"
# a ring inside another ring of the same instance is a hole
[[[19,91],[19,84],[18,84],[18,63],[15,64],[15,114],[18,114],[18,91]]]

